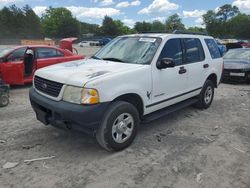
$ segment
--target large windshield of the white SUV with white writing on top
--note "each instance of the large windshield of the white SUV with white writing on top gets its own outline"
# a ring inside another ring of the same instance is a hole
[[[122,63],[150,64],[161,39],[149,37],[119,37],[93,57]]]

